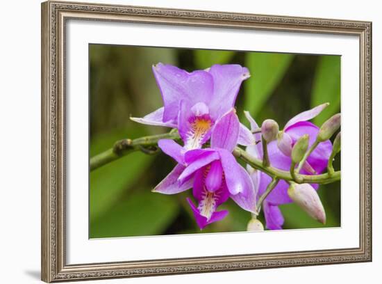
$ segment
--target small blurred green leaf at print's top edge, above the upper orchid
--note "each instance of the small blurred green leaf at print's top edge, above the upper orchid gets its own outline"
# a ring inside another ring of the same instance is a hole
[[[194,51],[194,61],[197,68],[206,69],[214,64],[229,63],[235,52],[227,52],[222,50],[202,50]]]

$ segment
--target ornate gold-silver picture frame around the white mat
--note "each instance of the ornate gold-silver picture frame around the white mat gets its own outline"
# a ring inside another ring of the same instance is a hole
[[[360,42],[360,244],[356,248],[67,265],[65,262],[65,22],[67,19],[353,35]],[[372,260],[372,23],[42,3],[42,280],[74,281]]]

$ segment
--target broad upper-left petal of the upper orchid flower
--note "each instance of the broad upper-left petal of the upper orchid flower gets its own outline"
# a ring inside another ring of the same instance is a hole
[[[213,95],[213,76],[204,70],[186,72],[172,65],[153,65],[153,74],[163,97],[163,121],[176,120],[178,102],[187,100],[191,107],[197,102],[207,105]]]

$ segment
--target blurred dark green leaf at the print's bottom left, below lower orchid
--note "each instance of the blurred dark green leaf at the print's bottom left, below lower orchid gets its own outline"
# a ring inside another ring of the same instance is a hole
[[[138,189],[90,223],[90,238],[162,235],[178,210],[174,196]]]

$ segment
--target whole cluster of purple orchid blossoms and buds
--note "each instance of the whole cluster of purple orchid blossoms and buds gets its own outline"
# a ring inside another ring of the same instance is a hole
[[[188,204],[200,229],[229,214],[218,209],[231,198],[251,212],[248,230],[264,230],[257,216],[261,209],[266,227],[281,229],[283,215],[279,205],[297,203],[310,216],[325,223],[326,216],[318,184],[301,183],[299,174],[317,175],[326,168],[333,173],[332,161],[340,151],[340,133],[332,145],[329,140],[340,127],[340,113],[317,127],[308,120],[328,104],[294,116],[283,130],[267,119],[259,127],[244,111],[250,129],[242,125],[235,111],[235,100],[242,81],[250,77],[240,65],[213,65],[206,70],[186,72],[172,65],[153,65],[153,74],[163,97],[163,107],[143,118],[131,118],[146,125],[178,130],[183,145],[161,139],[158,147],[178,164],[153,191],[178,194],[192,189]],[[294,180],[271,177],[265,171],[240,166],[233,156],[237,145],[247,154],[272,166],[290,171]],[[196,203],[195,203],[196,201]]]

